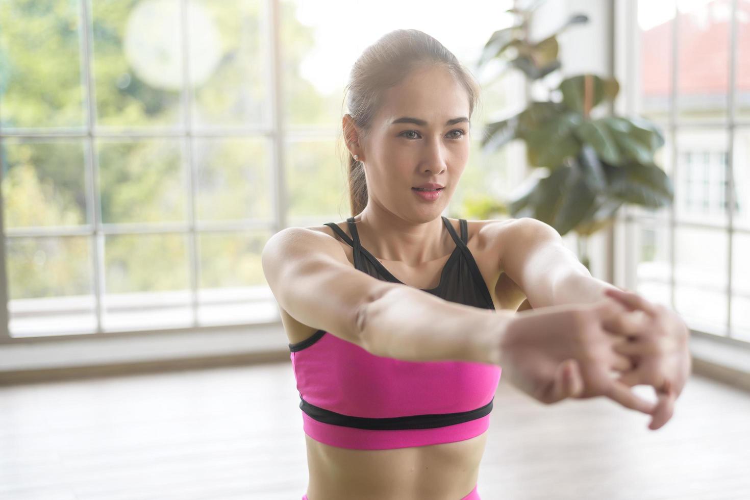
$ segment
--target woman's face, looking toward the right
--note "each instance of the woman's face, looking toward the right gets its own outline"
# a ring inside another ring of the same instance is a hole
[[[371,203],[426,222],[448,205],[469,160],[469,97],[448,70],[429,66],[389,88],[364,140]],[[444,186],[420,195],[427,182]]]

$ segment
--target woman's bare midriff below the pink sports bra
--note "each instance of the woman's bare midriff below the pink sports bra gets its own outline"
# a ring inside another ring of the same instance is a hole
[[[440,445],[350,450],[305,435],[308,500],[462,499],[477,484],[487,433]]]

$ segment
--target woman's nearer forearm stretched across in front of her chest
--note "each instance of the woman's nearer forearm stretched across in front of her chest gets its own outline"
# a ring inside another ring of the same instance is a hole
[[[499,364],[513,316],[398,286],[365,307],[360,335],[365,349],[387,358]]]

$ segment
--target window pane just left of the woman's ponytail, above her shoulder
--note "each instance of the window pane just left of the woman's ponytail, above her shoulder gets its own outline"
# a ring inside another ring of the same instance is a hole
[[[349,217],[344,166],[334,140],[287,142],[284,163],[291,226]]]

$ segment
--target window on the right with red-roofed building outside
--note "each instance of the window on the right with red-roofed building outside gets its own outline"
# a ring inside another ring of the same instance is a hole
[[[670,207],[620,214],[624,282],[750,341],[750,1],[620,2],[622,110],[658,123]]]

